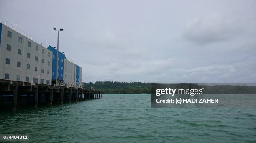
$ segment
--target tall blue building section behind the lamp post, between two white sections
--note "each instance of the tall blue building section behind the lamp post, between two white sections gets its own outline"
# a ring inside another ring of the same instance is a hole
[[[50,51],[52,51],[52,79],[56,80],[56,66],[57,66],[57,49],[51,46],[48,46],[48,48]],[[59,52],[59,78],[61,81],[63,81],[63,70],[64,70],[64,59],[66,59],[65,54]]]

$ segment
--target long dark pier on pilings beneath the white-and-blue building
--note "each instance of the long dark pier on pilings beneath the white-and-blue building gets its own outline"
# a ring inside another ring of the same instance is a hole
[[[83,96],[84,94],[84,96]],[[21,95],[26,98],[26,105],[37,108],[40,104],[63,104],[73,101],[83,101],[102,98],[99,90],[56,86],[47,84],[31,84],[29,82],[10,81],[0,79],[0,108],[4,108],[4,96],[12,95],[12,110],[16,111],[20,106]],[[43,100],[41,95],[44,95]],[[31,98],[32,97],[32,98]],[[24,105],[24,104],[23,104]]]

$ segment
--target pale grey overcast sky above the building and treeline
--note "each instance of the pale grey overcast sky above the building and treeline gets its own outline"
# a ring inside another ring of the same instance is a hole
[[[0,17],[57,45],[82,79],[256,82],[255,0],[0,0]]]

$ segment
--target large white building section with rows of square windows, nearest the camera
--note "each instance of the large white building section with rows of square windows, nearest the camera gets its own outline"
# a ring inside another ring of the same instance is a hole
[[[51,84],[52,52],[0,23],[0,79]]]

